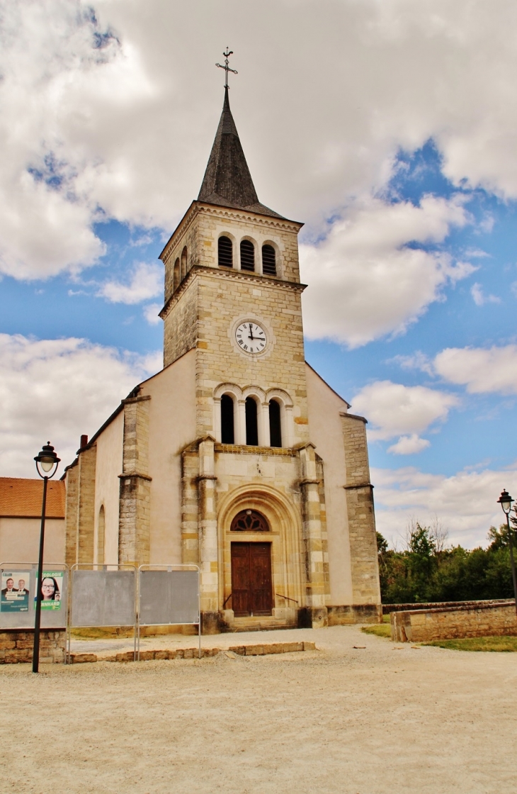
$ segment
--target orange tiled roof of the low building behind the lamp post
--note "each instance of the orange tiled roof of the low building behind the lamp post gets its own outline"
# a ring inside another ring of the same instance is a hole
[[[40,518],[43,501],[43,480],[21,477],[0,477],[0,518]],[[47,486],[47,518],[64,518],[65,484],[49,480]]]

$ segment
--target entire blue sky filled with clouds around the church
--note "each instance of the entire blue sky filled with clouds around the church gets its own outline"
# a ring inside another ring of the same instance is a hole
[[[305,222],[307,360],[369,419],[378,528],[483,544],[517,492],[512,4],[49,4],[6,5],[0,31],[0,473],[32,476],[41,433],[68,462],[159,368],[157,257],[201,183],[231,34],[259,198]],[[171,49],[164,23],[197,40]]]

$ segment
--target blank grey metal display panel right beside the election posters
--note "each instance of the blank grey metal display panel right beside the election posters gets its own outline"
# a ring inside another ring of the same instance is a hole
[[[72,571],[71,626],[134,626],[136,571]]]

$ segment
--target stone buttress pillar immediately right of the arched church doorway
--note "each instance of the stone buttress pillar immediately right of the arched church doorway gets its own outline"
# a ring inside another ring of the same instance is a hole
[[[300,449],[300,462],[307,605],[311,611],[312,625],[326,626],[328,583],[320,515],[320,480],[316,476],[314,445],[309,443]]]

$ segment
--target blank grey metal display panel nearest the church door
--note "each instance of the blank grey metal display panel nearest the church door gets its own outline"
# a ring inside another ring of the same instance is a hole
[[[140,571],[140,624],[199,622],[199,573]]]

